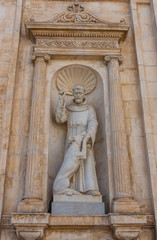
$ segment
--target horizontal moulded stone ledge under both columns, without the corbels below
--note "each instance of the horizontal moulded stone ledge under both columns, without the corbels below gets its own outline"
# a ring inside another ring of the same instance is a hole
[[[7,222],[5,221],[7,217]],[[10,219],[10,221],[9,221]],[[11,220],[12,219],[12,220]],[[68,221],[67,221],[68,220]],[[20,225],[47,226],[53,228],[108,227],[154,227],[153,215],[145,214],[106,214],[104,216],[55,216],[49,213],[15,213],[2,216],[2,227],[8,222],[15,227]]]

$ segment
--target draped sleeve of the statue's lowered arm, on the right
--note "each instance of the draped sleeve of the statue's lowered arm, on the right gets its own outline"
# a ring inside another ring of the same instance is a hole
[[[91,106],[88,111],[87,133],[91,137],[92,146],[94,145],[94,142],[95,142],[97,127],[98,127],[98,121],[97,121],[96,113],[94,108]]]

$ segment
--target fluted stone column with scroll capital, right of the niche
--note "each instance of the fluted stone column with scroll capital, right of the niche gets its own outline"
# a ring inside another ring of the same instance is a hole
[[[123,100],[119,74],[119,64],[123,61],[123,58],[121,55],[107,55],[105,56],[104,60],[108,65],[109,77],[111,145],[115,184],[113,212],[139,212],[139,206],[133,199],[132,195]]]

